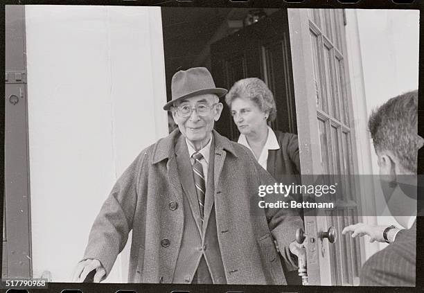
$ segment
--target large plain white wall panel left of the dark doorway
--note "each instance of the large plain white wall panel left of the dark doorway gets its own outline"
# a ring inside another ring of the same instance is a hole
[[[67,282],[117,177],[168,133],[160,8],[26,6],[26,46],[33,276]]]

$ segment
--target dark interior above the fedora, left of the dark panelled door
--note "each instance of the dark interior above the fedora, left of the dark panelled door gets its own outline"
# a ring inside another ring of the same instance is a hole
[[[243,28],[252,8],[162,7],[167,100],[170,80],[181,69],[204,66],[211,71],[211,44]],[[263,9],[271,15],[278,9]]]

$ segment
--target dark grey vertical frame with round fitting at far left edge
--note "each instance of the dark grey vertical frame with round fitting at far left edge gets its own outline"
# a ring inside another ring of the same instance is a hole
[[[5,6],[5,143],[1,276],[33,274],[30,228],[25,7]],[[6,256],[6,258],[5,258]],[[6,269],[6,272],[3,272]]]

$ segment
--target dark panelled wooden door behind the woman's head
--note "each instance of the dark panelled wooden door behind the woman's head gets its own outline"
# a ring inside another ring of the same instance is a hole
[[[242,78],[260,78],[276,102],[274,130],[297,133],[286,10],[279,10],[211,45],[212,75],[217,87],[230,89]],[[239,136],[227,105],[215,123],[220,134]]]

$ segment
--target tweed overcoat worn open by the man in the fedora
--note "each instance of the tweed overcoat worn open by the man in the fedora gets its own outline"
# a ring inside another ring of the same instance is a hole
[[[184,227],[184,191],[175,159],[175,130],[145,148],[123,175],[100,209],[89,234],[84,259],[95,258],[112,269],[132,231],[129,283],[172,283]],[[295,267],[288,246],[303,227],[296,211],[258,208],[258,186],[274,185],[272,176],[250,150],[213,131],[214,183],[218,242],[227,283],[285,284],[281,260]],[[290,198],[290,197],[287,197]],[[281,199],[284,199],[281,197]]]

